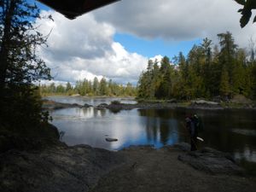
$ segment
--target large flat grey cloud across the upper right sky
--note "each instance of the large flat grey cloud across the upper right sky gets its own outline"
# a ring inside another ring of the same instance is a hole
[[[256,33],[256,25],[239,26],[241,6],[233,0],[122,0],[93,12],[119,32],[141,38],[191,40],[230,31],[241,46]],[[107,16],[108,15],[108,16]]]

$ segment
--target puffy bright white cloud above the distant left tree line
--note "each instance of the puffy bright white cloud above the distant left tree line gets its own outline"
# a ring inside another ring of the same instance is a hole
[[[44,12],[43,14],[47,14]],[[39,51],[51,68],[55,80],[113,79],[126,84],[136,84],[139,74],[147,66],[143,55],[129,53],[113,41],[113,26],[98,22],[93,15],[84,15],[77,20],[67,20],[52,12],[54,22],[38,20],[41,32],[52,32],[48,48]]]

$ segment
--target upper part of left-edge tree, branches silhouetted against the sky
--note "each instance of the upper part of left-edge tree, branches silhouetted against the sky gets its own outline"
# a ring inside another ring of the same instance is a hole
[[[25,0],[2,0],[0,7],[0,88],[49,79],[49,68],[35,51],[47,39],[33,26],[32,20],[39,19],[37,6]]]

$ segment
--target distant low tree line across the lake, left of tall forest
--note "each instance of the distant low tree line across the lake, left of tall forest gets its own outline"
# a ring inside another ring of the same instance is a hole
[[[117,84],[112,79],[102,78],[101,80],[96,77],[93,81],[84,79],[79,80],[73,86],[69,82],[66,85],[55,85],[55,83],[49,85],[40,85],[40,92],[45,95],[75,95],[80,96],[136,96],[137,88],[132,86],[131,83],[126,85]]]

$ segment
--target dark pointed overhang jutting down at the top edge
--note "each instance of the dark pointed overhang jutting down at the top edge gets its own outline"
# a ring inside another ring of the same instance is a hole
[[[38,0],[73,20],[91,10],[98,9],[120,0]]]

